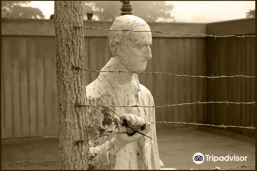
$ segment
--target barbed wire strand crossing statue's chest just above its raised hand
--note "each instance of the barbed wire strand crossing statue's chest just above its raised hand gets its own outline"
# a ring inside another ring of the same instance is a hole
[[[108,106],[108,107],[170,107],[170,106],[182,106],[182,105],[193,105],[193,104],[207,104],[207,103],[225,103],[225,104],[253,104],[255,106],[255,101],[253,102],[229,102],[227,101],[208,101],[208,102],[200,102],[199,100],[193,103],[181,103],[181,104],[173,104],[173,105],[163,105],[163,106],[140,106],[140,105],[132,105],[132,106],[113,106],[113,105],[86,105],[86,104],[79,104],[76,103],[77,107],[103,107],[103,106]]]

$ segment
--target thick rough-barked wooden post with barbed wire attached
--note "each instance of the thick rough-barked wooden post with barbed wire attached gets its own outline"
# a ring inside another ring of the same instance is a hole
[[[88,169],[88,139],[86,108],[85,45],[81,1],[55,1],[55,45],[57,67],[57,96],[59,114],[59,144],[62,170]]]

